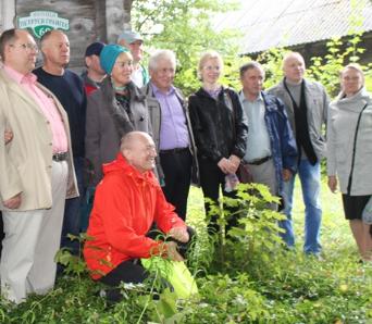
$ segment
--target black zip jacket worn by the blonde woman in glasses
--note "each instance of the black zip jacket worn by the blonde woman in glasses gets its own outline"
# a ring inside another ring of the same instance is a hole
[[[222,88],[216,99],[200,88],[189,98],[189,111],[199,158],[218,163],[246,152],[248,123],[238,95]]]

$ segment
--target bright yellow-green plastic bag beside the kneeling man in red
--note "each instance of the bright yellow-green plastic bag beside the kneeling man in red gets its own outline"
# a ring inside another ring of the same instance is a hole
[[[140,262],[148,271],[159,270],[161,276],[173,286],[178,298],[188,299],[198,295],[197,284],[185,262],[171,261],[160,257],[141,259]]]

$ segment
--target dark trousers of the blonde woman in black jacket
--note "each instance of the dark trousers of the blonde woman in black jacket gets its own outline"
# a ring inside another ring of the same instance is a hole
[[[222,194],[225,197],[236,198],[236,192],[226,192],[225,188],[225,174],[216,165],[215,162],[209,159],[199,159],[199,170],[200,170],[200,185],[204,199],[211,199],[219,207],[220,187],[222,187]],[[211,203],[204,201],[206,213],[210,216],[208,224],[208,233],[213,235],[220,232],[220,225],[216,221],[219,214],[212,213]],[[233,226],[238,225],[238,214],[236,214],[238,208],[224,207],[224,211],[228,212],[230,216],[226,220],[225,233],[228,232]]]

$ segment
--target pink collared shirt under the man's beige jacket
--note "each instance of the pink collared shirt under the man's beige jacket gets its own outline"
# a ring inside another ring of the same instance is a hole
[[[53,98],[44,92],[36,85],[37,77],[35,74],[28,73],[23,75],[7,65],[4,65],[4,71],[13,80],[15,80],[23,89],[25,89],[29,96],[32,96],[42,114],[48,120],[52,133],[53,153],[66,152],[69,150],[67,136],[61,114],[55,107]]]

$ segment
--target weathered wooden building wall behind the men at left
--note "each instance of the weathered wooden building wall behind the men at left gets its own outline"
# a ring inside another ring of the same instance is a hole
[[[84,66],[86,47],[96,40],[115,42],[122,30],[131,29],[132,0],[0,0],[0,33],[18,27],[20,18],[33,12],[51,12],[69,22],[70,67]],[[36,20],[34,20],[35,22]],[[38,20],[48,22],[48,20]],[[45,24],[45,25],[48,25]],[[37,36],[35,37],[37,38]]]

